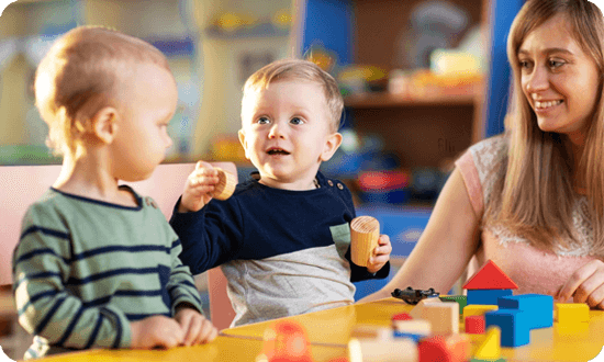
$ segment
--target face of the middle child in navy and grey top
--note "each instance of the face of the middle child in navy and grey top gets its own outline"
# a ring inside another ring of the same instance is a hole
[[[321,161],[339,146],[338,135],[320,84],[280,80],[246,102],[239,139],[246,157],[260,172],[260,182],[278,189],[305,190]],[[339,135],[338,135],[339,136]]]

